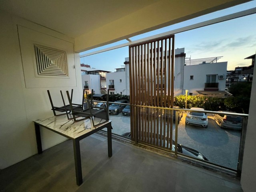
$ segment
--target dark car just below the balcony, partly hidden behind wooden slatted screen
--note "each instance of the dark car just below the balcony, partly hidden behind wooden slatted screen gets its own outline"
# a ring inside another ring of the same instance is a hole
[[[131,132],[124,133],[121,136],[126,137],[126,138],[131,138]],[[167,139],[165,138],[165,140],[167,140]],[[166,145],[167,145],[167,142],[166,142]],[[175,150],[174,140],[172,140],[172,150],[173,151]],[[188,156],[191,156],[191,157],[194,157],[194,158],[198,158],[198,159],[201,159],[201,160],[208,161],[208,159],[203,154],[201,154],[197,150],[194,150],[194,149],[192,149],[190,147],[187,147],[187,146],[177,144],[177,151],[179,153],[184,154],[184,155],[188,155]]]

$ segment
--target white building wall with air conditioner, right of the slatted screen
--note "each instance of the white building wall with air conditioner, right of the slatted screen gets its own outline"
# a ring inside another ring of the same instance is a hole
[[[218,63],[206,63],[197,65],[184,66],[184,89],[188,90],[188,93],[197,95],[196,90],[204,90],[204,83],[206,83],[206,75],[217,74],[224,75],[224,79],[218,79],[219,90],[225,90],[226,85],[226,71],[227,62]],[[194,76],[194,80],[190,80],[190,76]]]

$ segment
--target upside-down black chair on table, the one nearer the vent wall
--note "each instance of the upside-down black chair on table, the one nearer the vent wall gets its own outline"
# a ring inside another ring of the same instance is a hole
[[[62,97],[62,102],[63,102],[63,105],[64,105],[64,106],[57,107],[57,106],[54,106],[54,105],[53,105],[52,97],[51,97],[50,91],[47,90],[47,92],[48,92],[48,96],[49,96],[49,99],[50,99],[50,103],[51,103],[51,105],[52,105],[52,111],[53,111],[54,116],[63,115],[63,113],[56,115],[56,111],[58,111],[58,112],[65,112],[66,115],[67,115],[67,117],[68,117],[68,119],[72,119],[72,117],[70,118],[70,117],[68,116],[68,114],[70,114],[70,112],[71,112],[71,108],[72,108],[72,109],[76,109],[76,111],[82,111],[82,110],[83,110],[84,94],[83,94],[83,98],[82,98],[82,105],[81,105],[81,104],[74,104],[74,103],[72,103],[72,97],[73,97],[73,89],[72,89],[72,90],[71,90],[71,98],[70,98],[70,100],[69,100],[69,104],[66,105],[66,104],[65,104],[65,101],[64,101],[64,97],[63,97],[62,91],[60,91],[60,94],[61,94],[61,97]]]

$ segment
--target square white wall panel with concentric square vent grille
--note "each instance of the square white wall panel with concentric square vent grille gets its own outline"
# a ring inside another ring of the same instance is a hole
[[[26,88],[75,87],[74,44],[18,25]]]

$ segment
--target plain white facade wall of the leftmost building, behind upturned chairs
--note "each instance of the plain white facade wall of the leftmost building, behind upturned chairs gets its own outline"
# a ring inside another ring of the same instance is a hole
[[[88,88],[87,92],[90,94],[92,89],[94,90],[95,94],[100,94],[100,75],[82,75],[82,88],[84,88],[84,81],[88,81]]]

